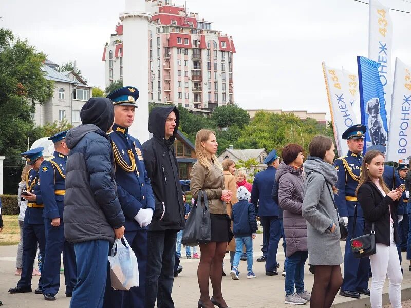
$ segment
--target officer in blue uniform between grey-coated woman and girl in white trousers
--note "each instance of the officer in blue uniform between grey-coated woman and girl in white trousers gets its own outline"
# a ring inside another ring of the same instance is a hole
[[[335,194],[340,217],[347,224],[349,235],[345,243],[344,279],[341,285],[341,296],[360,298],[360,294],[369,295],[368,275],[370,263],[368,258],[354,258],[350,249],[350,240],[363,235],[364,214],[361,205],[357,204],[358,214],[356,233],[352,234],[354,223],[354,209],[357,203],[356,188],[361,175],[362,151],[364,135],[367,128],[364,125],[354,125],[344,131],[342,138],[347,140],[348,153],[334,161],[337,169],[338,181],[335,185],[338,194]]]

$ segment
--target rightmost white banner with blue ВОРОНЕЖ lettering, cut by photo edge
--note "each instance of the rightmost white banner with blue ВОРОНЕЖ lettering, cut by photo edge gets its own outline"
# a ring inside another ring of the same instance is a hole
[[[387,160],[407,159],[411,155],[411,66],[395,61],[393,105],[389,121]],[[410,142],[410,143],[408,143]]]

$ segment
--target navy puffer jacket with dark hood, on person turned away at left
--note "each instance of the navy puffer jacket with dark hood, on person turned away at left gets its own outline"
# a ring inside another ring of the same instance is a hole
[[[114,120],[113,103],[106,98],[92,99],[96,104],[86,110],[83,123],[96,123],[108,130]],[[87,104],[84,107],[87,108]],[[125,222],[116,196],[111,143],[101,127],[80,125],[70,129],[66,135],[70,153],[66,164],[64,235],[73,243],[92,240],[114,242],[113,228],[120,228]]]

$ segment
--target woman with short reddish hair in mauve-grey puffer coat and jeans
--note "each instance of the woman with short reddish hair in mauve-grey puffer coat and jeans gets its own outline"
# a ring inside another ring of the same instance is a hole
[[[278,205],[284,210],[283,226],[287,246],[286,304],[305,304],[310,293],[304,290],[304,265],[308,257],[307,224],[301,216],[304,199],[303,148],[287,144],[282,151],[275,180],[278,183]]]

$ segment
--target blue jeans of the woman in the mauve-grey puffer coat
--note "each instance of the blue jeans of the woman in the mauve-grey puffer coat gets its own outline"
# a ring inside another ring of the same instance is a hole
[[[297,294],[304,292],[304,264],[308,252],[295,252],[287,257],[286,281],[284,289],[287,296],[294,293],[294,284]]]

